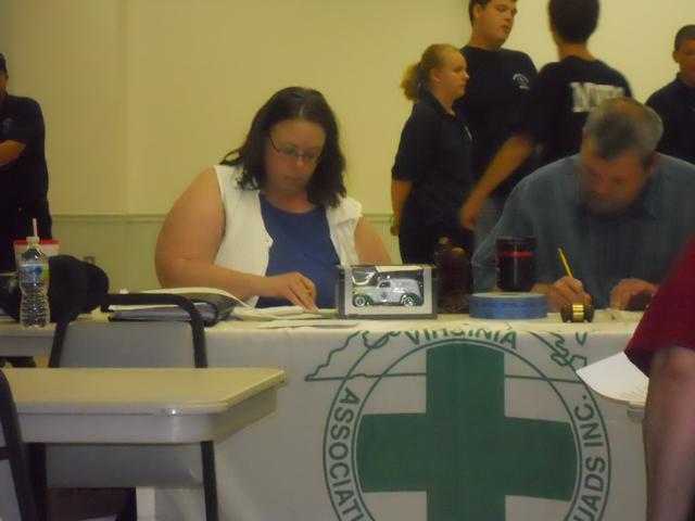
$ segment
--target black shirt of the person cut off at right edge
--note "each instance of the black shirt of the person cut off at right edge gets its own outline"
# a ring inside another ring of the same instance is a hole
[[[695,163],[695,87],[680,78],[657,90],[647,100],[664,122],[658,151]]]

